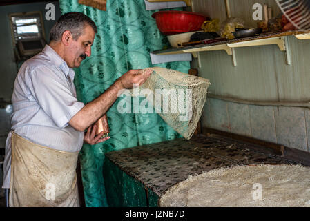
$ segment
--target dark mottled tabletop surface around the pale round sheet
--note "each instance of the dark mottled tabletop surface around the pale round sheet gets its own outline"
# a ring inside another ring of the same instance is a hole
[[[260,151],[260,149],[262,151]],[[193,136],[106,153],[106,157],[161,197],[189,175],[224,166],[246,164],[297,164],[264,147],[220,135]]]

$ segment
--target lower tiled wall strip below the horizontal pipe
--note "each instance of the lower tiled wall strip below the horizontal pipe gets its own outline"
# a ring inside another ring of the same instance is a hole
[[[202,115],[202,125],[310,151],[308,108],[258,106],[208,98]]]

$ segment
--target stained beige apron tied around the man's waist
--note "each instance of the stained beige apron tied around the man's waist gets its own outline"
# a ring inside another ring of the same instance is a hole
[[[78,154],[12,133],[10,207],[78,207]]]

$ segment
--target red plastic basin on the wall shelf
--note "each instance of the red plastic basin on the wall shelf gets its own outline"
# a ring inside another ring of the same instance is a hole
[[[159,30],[164,35],[201,30],[202,23],[208,20],[205,15],[184,11],[160,11],[152,15]]]

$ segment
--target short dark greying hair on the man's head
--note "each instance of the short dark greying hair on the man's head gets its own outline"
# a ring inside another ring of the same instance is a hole
[[[50,41],[59,41],[62,34],[69,30],[75,41],[83,34],[84,28],[89,25],[97,33],[97,26],[90,17],[81,12],[68,12],[59,17],[58,21],[50,30]]]

